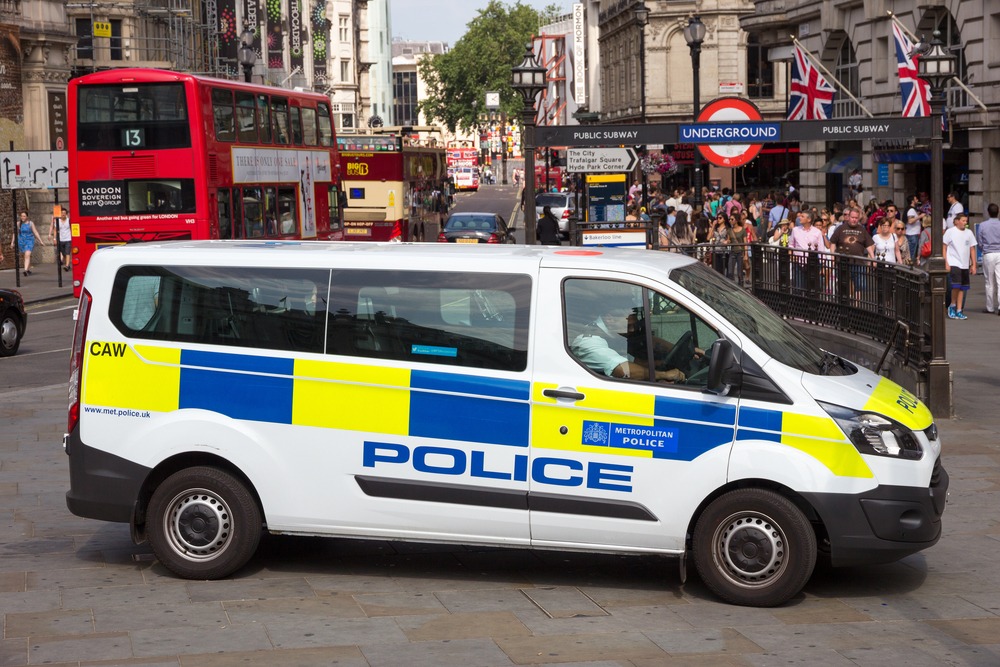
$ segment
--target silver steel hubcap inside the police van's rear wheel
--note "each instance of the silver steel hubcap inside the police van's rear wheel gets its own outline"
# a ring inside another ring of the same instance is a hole
[[[167,508],[163,532],[178,556],[203,563],[218,558],[232,543],[232,513],[218,494],[190,489],[177,494]]]

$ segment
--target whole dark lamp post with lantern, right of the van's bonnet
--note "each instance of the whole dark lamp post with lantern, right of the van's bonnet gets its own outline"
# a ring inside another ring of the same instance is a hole
[[[931,363],[927,373],[927,395],[935,417],[951,416],[950,368],[945,358],[944,298],[947,275],[943,253],[944,171],[941,164],[941,118],[945,86],[955,75],[955,56],[934,31],[930,44],[921,40],[914,48],[921,54],[917,71],[930,86],[931,94],[931,256],[927,272],[931,278]]]

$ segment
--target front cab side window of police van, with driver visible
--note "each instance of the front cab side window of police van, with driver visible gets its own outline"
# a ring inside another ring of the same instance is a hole
[[[566,348],[609,378],[704,387],[718,334],[697,315],[644,287],[612,280],[563,285]]]

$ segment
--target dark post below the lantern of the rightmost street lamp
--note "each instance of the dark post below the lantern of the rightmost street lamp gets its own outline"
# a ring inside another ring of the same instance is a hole
[[[927,372],[927,394],[931,414],[951,416],[951,368],[945,358],[945,291],[948,271],[944,261],[944,167],[941,164],[942,90],[931,90],[931,256],[927,272],[931,281],[931,362]]]

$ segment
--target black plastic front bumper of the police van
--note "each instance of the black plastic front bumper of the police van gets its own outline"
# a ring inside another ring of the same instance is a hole
[[[948,473],[934,464],[930,486],[878,486],[859,494],[803,493],[826,527],[834,567],[891,563],[937,544]]]

